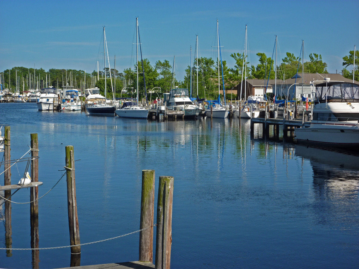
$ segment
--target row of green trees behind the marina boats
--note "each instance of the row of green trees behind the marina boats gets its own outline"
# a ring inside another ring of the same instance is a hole
[[[355,55],[355,74],[356,81],[359,80],[359,53]],[[219,67],[220,83],[218,83],[218,59],[200,57],[195,58],[192,66],[187,66],[185,69],[185,77],[183,80],[177,80],[176,74],[173,74],[172,65],[168,60],[157,61],[151,65],[148,59],[143,60],[143,69],[146,81],[146,91],[149,93],[154,90],[157,93],[169,92],[170,89],[178,86],[179,88],[187,88],[191,90],[192,97],[196,97],[197,93],[200,98],[217,98],[218,88],[222,90],[222,68],[225,80],[225,88],[231,89],[237,86],[244,75],[247,79],[274,79],[274,61],[271,57],[267,57],[265,53],[258,52],[259,63],[257,66],[250,65],[246,59],[244,62],[244,53],[232,53],[235,61],[233,67],[228,67],[227,62],[223,61]],[[285,57],[281,59],[280,65],[277,66],[277,79],[289,79],[293,77],[297,71],[302,72],[302,59],[296,57],[293,53],[287,52]],[[353,79],[353,60],[354,51],[350,51],[349,55],[343,57],[342,75],[349,79]],[[198,65],[197,65],[198,61]],[[132,68],[127,68],[122,72],[111,69],[112,85],[116,88],[116,97],[131,97],[135,96],[136,90],[136,70],[138,65],[139,72],[139,93],[140,97],[144,96],[144,80],[141,61],[134,64]],[[247,66],[243,70],[243,66]],[[350,68],[351,67],[351,68]],[[349,69],[348,69],[349,68]],[[306,73],[327,73],[327,63],[323,62],[322,56],[317,53],[309,54],[309,61],[303,63],[303,69]],[[101,93],[104,93],[104,72],[102,70],[97,73],[86,73],[83,70],[74,69],[49,69],[47,72],[40,69],[13,67],[11,70],[4,70],[1,74],[1,82],[3,88],[9,88],[9,72],[10,72],[10,88],[14,91],[16,84],[18,90],[22,92],[23,86],[25,90],[44,88],[46,86],[53,86],[61,88],[64,85],[73,85],[76,89],[98,87]],[[246,73],[245,73],[246,72]],[[243,74],[242,74],[243,73]],[[198,74],[198,77],[197,77]],[[17,75],[17,77],[16,77]],[[192,77],[192,79],[191,79]],[[111,81],[108,67],[106,68],[107,80],[107,96],[112,97]],[[191,87],[192,81],[192,87]],[[197,81],[198,86],[197,86]],[[220,84],[220,85],[219,85]],[[121,90],[124,89],[125,91]],[[153,95],[154,98],[157,96]]]

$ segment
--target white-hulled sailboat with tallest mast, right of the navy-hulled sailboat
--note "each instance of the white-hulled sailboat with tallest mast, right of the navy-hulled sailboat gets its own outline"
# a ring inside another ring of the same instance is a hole
[[[145,109],[144,107],[141,107],[138,105],[138,45],[139,45],[139,43],[138,43],[137,39],[139,37],[140,37],[140,34],[138,31],[138,18],[136,18],[136,68],[137,68],[137,70],[136,70],[136,91],[137,91],[137,96],[135,99],[136,102],[134,102],[135,100],[124,102],[122,104],[121,108],[116,109],[116,111],[115,111],[116,115],[118,117],[122,117],[122,118],[146,119],[148,117],[148,109]],[[140,41],[140,48],[141,48],[141,41]],[[141,52],[141,62],[143,62],[142,52]],[[145,73],[143,70],[143,65],[142,65],[142,71],[143,71],[143,81],[144,81],[144,85],[146,87]]]

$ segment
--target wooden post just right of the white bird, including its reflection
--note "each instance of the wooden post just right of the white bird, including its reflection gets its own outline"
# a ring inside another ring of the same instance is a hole
[[[37,133],[30,134],[31,147],[31,181],[39,181],[39,144]],[[30,227],[31,227],[31,248],[39,247],[39,203],[38,187],[30,188]],[[39,268],[39,250],[32,250],[32,263],[34,268]]]

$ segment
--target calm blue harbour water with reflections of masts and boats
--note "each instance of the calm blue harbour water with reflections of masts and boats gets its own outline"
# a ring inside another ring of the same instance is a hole
[[[39,196],[74,146],[81,243],[138,230],[141,171],[155,169],[156,197],[158,176],[174,176],[171,268],[358,266],[358,156],[266,141],[259,125],[251,139],[238,119],[148,122],[14,103],[0,104],[0,123],[11,126],[12,159],[38,133]],[[13,183],[24,169],[11,168]],[[39,201],[40,247],[69,245],[66,195],[64,177]],[[29,189],[12,200],[28,202]],[[11,224],[12,247],[30,247],[28,204],[12,204]],[[136,233],[82,246],[81,265],[138,260],[138,244]],[[70,266],[69,248],[39,255],[40,268]],[[0,252],[1,268],[31,266],[31,251]]]

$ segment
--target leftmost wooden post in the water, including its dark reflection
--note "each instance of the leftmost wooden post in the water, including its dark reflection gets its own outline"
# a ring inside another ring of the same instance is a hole
[[[5,126],[4,133],[4,186],[11,185],[11,164],[10,164],[10,126]],[[13,244],[12,240],[12,228],[11,228],[11,190],[4,191],[5,200],[5,245],[7,248],[11,248]],[[6,250],[6,257],[13,255],[12,250]]]

